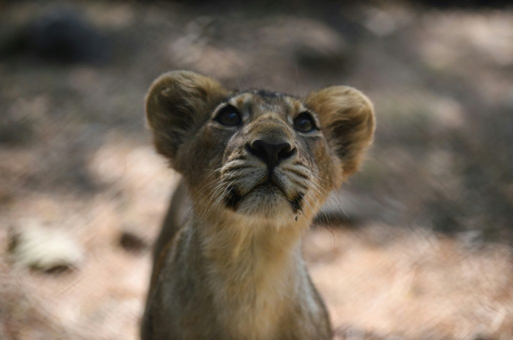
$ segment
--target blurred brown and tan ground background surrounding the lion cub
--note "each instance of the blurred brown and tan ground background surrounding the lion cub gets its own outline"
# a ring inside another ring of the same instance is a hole
[[[374,102],[304,243],[335,339],[513,339],[513,8],[480,0],[0,0],[0,339],[137,339],[176,69]]]

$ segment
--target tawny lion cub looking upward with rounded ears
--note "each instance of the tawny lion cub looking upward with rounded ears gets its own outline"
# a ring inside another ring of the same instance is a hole
[[[331,339],[301,238],[371,143],[369,99],[345,86],[233,92],[176,71],[151,86],[146,117],[185,186],[156,244],[141,338]]]

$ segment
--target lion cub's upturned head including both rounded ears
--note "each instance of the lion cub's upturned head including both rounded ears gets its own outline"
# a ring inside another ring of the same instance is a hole
[[[296,98],[233,92],[187,71],[163,74],[146,97],[155,146],[181,172],[199,213],[277,222],[312,218],[358,169],[374,113],[354,88]]]

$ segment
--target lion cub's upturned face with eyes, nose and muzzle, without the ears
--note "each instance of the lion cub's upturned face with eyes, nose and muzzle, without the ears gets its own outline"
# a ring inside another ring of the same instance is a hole
[[[259,218],[292,218],[318,207],[337,166],[319,124],[316,113],[286,95],[250,91],[222,102],[201,132],[217,136],[210,143],[219,146],[211,155],[219,204]]]

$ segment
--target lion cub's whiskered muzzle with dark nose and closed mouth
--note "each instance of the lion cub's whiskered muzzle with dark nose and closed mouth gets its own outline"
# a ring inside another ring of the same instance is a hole
[[[224,204],[238,213],[277,216],[297,213],[311,181],[311,172],[300,157],[292,136],[280,127],[248,131],[221,170]],[[248,138],[249,137],[249,138]]]

